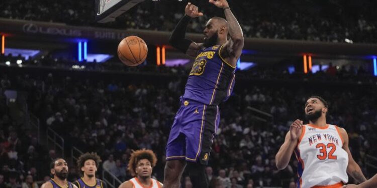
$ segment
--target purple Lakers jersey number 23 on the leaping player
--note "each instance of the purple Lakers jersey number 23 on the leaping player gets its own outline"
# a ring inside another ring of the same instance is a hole
[[[219,54],[223,46],[212,46],[198,52],[183,98],[207,105],[218,105],[232,94],[235,67]]]

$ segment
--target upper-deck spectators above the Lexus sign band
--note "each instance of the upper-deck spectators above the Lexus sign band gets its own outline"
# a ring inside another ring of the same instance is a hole
[[[135,6],[116,22],[95,23],[95,1],[6,1],[0,5],[0,17],[67,23],[77,26],[99,26],[119,29],[172,31],[183,16],[186,1],[145,1]],[[213,16],[224,16],[222,11],[207,1],[194,1],[204,13],[193,19],[189,32],[202,33],[206,21]],[[325,42],[373,43],[377,36],[374,1],[297,1],[268,3],[230,1],[246,37],[309,40]],[[174,7],[174,11],[172,11]]]

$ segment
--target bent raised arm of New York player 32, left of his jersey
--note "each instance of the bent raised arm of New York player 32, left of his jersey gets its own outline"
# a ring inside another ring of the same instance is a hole
[[[303,121],[300,119],[297,119],[291,124],[290,131],[288,131],[284,143],[281,145],[275,156],[277,169],[281,170],[287,167],[291,160],[292,153],[297,146],[302,130]]]

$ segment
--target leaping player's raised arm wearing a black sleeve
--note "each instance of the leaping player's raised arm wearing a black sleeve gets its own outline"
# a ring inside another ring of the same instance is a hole
[[[197,44],[192,40],[185,39],[184,36],[186,34],[187,25],[189,24],[191,18],[203,16],[203,13],[200,13],[198,10],[199,9],[197,6],[188,3],[186,8],[184,9],[185,15],[175,26],[173,33],[169,38],[169,43],[172,47],[193,57],[197,56],[198,51],[202,47],[202,44]]]

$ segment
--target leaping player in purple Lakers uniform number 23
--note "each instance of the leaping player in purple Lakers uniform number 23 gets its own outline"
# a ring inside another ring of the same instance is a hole
[[[209,3],[223,9],[226,19],[214,17],[207,22],[204,43],[184,38],[190,20],[203,16],[191,3],[169,40],[171,46],[196,59],[166,145],[165,188],[179,187],[186,164],[193,187],[208,187],[205,165],[220,121],[218,105],[234,87],[234,71],[244,41],[242,30],[226,0]]]

